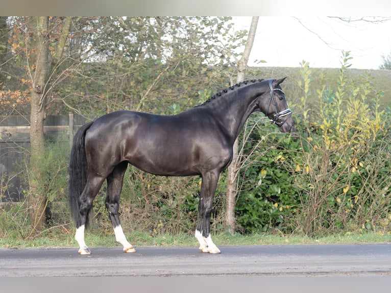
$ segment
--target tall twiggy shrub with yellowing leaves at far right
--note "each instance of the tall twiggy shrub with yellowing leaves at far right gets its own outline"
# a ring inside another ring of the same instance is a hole
[[[302,162],[290,166],[302,203],[296,227],[306,235],[374,229],[388,218],[389,117],[368,99],[370,77],[346,78],[350,59],[345,53],[335,90],[317,90],[320,111],[302,135]]]

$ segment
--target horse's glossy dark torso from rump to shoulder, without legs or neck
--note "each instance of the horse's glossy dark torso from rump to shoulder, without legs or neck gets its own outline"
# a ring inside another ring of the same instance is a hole
[[[105,166],[129,161],[145,172],[164,176],[223,169],[231,160],[232,146],[212,123],[194,113],[160,116],[114,112],[97,119],[87,132],[87,158],[104,168],[102,162],[93,159],[94,153],[100,153],[100,158],[106,158]]]

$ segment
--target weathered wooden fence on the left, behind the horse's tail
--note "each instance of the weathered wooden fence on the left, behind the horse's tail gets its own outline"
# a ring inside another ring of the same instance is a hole
[[[20,178],[17,164],[30,148],[30,117],[0,116],[0,202],[21,201],[28,186]],[[43,131],[46,138],[72,143],[75,131],[85,123],[80,115],[47,116]]]

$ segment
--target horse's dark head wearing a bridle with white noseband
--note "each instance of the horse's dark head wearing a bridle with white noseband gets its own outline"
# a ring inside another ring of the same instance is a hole
[[[286,79],[268,80],[268,99],[263,97],[259,102],[260,110],[270,119],[272,124],[276,124],[281,132],[291,132],[294,130],[294,121],[291,111],[285,100],[285,93],[280,84]]]

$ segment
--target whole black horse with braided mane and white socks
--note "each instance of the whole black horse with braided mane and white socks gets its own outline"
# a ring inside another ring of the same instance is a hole
[[[135,252],[118,216],[128,164],[155,175],[201,175],[195,237],[202,252],[220,253],[210,233],[210,214],[220,173],[232,160],[232,147],[249,115],[262,111],[281,132],[294,128],[280,80],[251,80],[215,94],[201,106],[173,116],[116,111],[82,126],[69,164],[69,202],[80,254],[90,254],[84,228],[92,201],[107,180],[106,208],[116,241]]]

